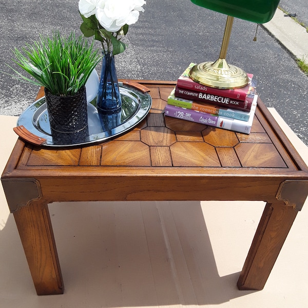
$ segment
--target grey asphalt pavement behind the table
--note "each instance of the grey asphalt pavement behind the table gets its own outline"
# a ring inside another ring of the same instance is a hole
[[[127,50],[116,58],[119,78],[176,80],[190,62],[217,59],[225,15],[189,0],[149,0],[144,8],[139,21],[130,26]],[[5,63],[13,65],[11,49],[54,30],[81,33],[78,1],[0,0],[0,10],[0,114],[19,115],[33,102],[38,89],[4,73],[9,72]],[[226,59],[254,74],[265,105],[276,108],[308,145],[308,77],[262,27],[254,42],[255,31],[255,24],[236,19]]]

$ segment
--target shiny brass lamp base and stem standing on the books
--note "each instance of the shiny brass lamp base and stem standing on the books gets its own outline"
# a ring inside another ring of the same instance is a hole
[[[239,67],[227,64],[225,57],[234,17],[228,16],[223,35],[219,59],[215,62],[203,62],[190,69],[192,80],[212,88],[236,89],[249,82],[247,74]]]

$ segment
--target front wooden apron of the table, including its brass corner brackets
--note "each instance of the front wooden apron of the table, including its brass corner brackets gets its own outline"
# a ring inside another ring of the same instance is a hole
[[[2,179],[11,211],[31,200],[75,201],[264,201],[300,210],[308,180],[259,177],[59,177]],[[16,191],[24,190],[23,194]],[[23,196],[23,200],[16,200]]]

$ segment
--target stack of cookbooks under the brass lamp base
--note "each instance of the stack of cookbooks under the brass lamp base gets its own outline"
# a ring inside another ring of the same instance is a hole
[[[239,89],[217,89],[190,79],[194,63],[179,77],[168,97],[165,115],[237,132],[250,133],[257,107],[256,83],[247,74],[249,83]]]

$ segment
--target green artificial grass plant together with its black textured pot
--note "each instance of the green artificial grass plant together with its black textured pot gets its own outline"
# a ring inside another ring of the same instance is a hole
[[[55,32],[51,38],[40,36],[33,45],[13,52],[14,62],[34,80],[12,68],[16,78],[45,88],[54,142],[76,143],[75,133],[80,135],[88,126],[85,84],[102,58],[99,50],[94,50],[93,42],[89,44],[82,35],[77,37],[71,32],[62,37]]]

